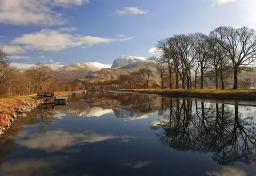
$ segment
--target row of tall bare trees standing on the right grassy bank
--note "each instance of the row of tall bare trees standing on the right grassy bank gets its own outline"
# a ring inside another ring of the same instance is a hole
[[[169,88],[204,89],[206,78],[213,78],[215,88],[225,89],[225,76],[233,72],[234,87],[238,89],[238,73],[250,71],[256,60],[256,33],[248,27],[221,26],[209,35],[202,33],[180,34],[157,42],[161,57],[151,57],[158,62],[161,82],[169,78]],[[167,70],[167,75],[165,71]],[[174,81],[173,81],[174,80]],[[175,84],[173,84],[175,82]],[[163,87],[164,85],[162,85]]]

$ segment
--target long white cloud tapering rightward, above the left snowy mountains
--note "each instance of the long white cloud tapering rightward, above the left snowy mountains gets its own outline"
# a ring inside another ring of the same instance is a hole
[[[69,47],[92,46],[98,44],[108,44],[111,42],[124,42],[130,39],[133,38],[102,38],[62,33],[60,30],[42,29],[39,32],[24,34],[21,37],[14,38],[11,43],[21,44],[28,49],[60,51]]]

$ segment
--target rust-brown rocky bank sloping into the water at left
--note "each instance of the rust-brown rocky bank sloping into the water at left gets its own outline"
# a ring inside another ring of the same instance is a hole
[[[17,118],[26,117],[27,113],[41,105],[43,100],[6,100],[0,102],[0,134],[9,129]]]

